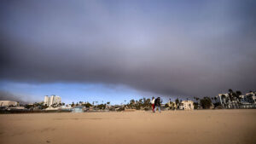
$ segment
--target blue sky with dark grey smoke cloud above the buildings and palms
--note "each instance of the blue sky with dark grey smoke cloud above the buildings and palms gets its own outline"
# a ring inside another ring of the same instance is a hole
[[[122,103],[256,90],[253,0],[0,3],[1,99]]]

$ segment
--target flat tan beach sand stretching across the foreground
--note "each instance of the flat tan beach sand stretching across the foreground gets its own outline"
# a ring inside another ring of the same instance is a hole
[[[253,144],[256,110],[0,115],[1,144]]]

